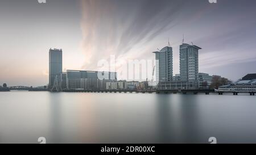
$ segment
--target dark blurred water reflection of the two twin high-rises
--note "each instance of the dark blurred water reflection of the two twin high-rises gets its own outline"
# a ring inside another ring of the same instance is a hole
[[[195,143],[200,141],[197,95],[156,96],[160,143]]]

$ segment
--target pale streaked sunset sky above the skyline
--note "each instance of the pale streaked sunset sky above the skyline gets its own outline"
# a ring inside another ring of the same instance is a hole
[[[168,45],[179,73],[179,45],[201,47],[199,72],[232,80],[256,73],[254,0],[1,0],[0,84],[48,83],[49,48],[63,49],[63,70],[97,62],[154,60]],[[2,85],[2,84],[1,84]]]

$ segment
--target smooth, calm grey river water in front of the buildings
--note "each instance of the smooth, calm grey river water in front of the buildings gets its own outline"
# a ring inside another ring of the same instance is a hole
[[[0,143],[256,143],[248,95],[0,92]]]

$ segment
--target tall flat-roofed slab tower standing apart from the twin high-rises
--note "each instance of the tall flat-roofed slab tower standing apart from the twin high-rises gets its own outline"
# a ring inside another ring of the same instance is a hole
[[[55,79],[60,83],[62,73],[62,49],[49,49],[49,85],[53,87]]]

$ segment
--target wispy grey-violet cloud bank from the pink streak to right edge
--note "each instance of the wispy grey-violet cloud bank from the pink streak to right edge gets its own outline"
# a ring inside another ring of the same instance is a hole
[[[200,69],[254,61],[250,40],[255,40],[255,22],[250,19],[255,11],[243,6],[241,14],[240,2],[228,6],[186,0],[81,0],[82,69],[96,70],[97,62],[110,55],[121,60],[154,58],[151,52],[171,37],[177,73],[183,33],[185,41],[203,48]]]

